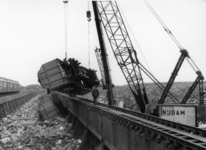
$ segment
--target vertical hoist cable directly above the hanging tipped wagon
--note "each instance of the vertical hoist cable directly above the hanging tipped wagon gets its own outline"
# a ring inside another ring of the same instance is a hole
[[[67,22],[68,22],[68,0],[63,0],[64,3],[64,28],[65,28],[65,58],[67,58]]]

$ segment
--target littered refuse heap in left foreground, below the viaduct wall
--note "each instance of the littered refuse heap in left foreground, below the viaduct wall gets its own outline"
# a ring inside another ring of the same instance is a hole
[[[56,116],[40,120],[39,96],[0,120],[0,150],[76,150],[81,140],[71,136],[71,124]]]

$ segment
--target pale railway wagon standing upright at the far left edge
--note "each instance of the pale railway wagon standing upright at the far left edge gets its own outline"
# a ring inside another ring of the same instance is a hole
[[[19,92],[20,84],[18,81],[0,77],[0,94]]]

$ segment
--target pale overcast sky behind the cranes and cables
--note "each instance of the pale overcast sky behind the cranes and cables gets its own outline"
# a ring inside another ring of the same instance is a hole
[[[206,2],[149,2],[206,76]],[[119,1],[118,4],[152,73],[159,81],[168,81],[180,56],[178,47],[144,1]],[[91,4],[89,7],[92,11]],[[68,57],[76,58],[82,66],[88,67],[90,51],[90,67],[97,70],[101,78],[94,53],[94,48],[99,47],[94,15],[88,36],[87,10],[85,0],[68,3]],[[64,59],[64,31],[61,0],[0,0],[0,76],[19,81],[23,86],[37,84],[37,72],[42,64],[55,58]],[[132,33],[129,31],[138,58],[148,68]],[[126,84],[108,41],[106,44],[113,82]],[[195,78],[196,74],[185,61],[176,81],[194,81]],[[151,82],[145,76],[144,81]]]

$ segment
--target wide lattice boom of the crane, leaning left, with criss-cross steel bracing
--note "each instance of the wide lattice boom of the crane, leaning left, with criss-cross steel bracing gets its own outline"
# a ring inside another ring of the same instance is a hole
[[[117,3],[113,1],[93,1],[92,4],[96,24],[97,22],[102,23],[114,56],[135,97],[136,103],[140,111],[145,112],[148,98],[139,68],[139,61]]]

